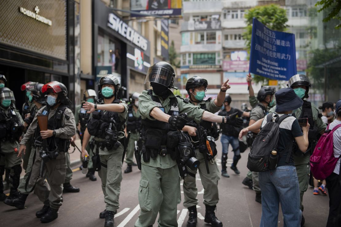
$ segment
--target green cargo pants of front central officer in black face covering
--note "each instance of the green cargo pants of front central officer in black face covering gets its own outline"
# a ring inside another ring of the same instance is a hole
[[[176,227],[177,205],[181,202],[178,166],[162,169],[142,164],[138,189],[140,214],[135,227],[154,224],[159,213],[159,227]]]

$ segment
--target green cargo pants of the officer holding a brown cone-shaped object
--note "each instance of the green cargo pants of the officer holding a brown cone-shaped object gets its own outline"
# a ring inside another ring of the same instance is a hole
[[[39,176],[40,163],[42,162],[39,157],[39,148],[35,150],[35,161],[32,166],[32,174],[29,181],[31,187],[33,187],[37,177]],[[50,187],[46,185],[36,184],[34,193],[38,196],[40,201],[49,201],[49,205],[52,209],[58,210],[62,205],[61,197],[63,194],[63,183],[66,173],[66,157],[64,152],[58,152],[56,159],[51,159],[44,163],[44,173],[42,179],[47,179]]]

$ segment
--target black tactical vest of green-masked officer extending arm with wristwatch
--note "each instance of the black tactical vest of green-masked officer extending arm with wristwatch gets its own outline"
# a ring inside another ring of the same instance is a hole
[[[98,103],[102,103],[99,101]],[[113,103],[120,103],[115,99]],[[118,132],[123,129],[122,122],[117,112],[112,111],[94,111],[92,117],[87,124],[90,135],[105,139],[106,142],[115,144]]]

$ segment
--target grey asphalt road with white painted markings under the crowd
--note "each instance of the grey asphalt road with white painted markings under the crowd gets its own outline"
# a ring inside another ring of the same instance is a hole
[[[220,166],[221,144],[217,141],[218,164]],[[232,152],[228,153],[228,165],[232,163]],[[228,167],[229,178],[222,177],[219,181],[219,203],[217,205],[216,215],[224,226],[247,227],[259,226],[262,207],[254,201],[255,193],[244,186],[241,181],[248,171],[246,167],[248,150],[242,153],[242,158],[238,163],[240,175],[235,175]],[[35,217],[35,212],[40,210],[43,204],[32,193],[28,196],[26,207],[18,210],[14,207],[0,204],[0,226],[63,226],[63,227],[85,227],[85,226],[103,226],[104,219],[99,218],[99,213],[105,209],[103,193],[101,189],[101,180],[90,181],[79,171],[78,166],[74,166],[74,175],[71,183],[80,188],[79,193],[64,193],[63,205],[59,209],[58,218],[48,224],[42,224],[39,218]],[[123,164],[122,170],[126,168]],[[133,172],[123,173],[120,194],[120,208],[115,215],[115,226],[132,227],[138,218],[139,205],[137,191],[139,185],[140,172],[137,167],[133,167]],[[205,206],[203,204],[203,187],[197,174],[198,186],[198,227],[210,226],[204,223]],[[182,185],[182,184],[181,184]],[[182,186],[181,186],[182,188]],[[9,190],[5,191],[8,193]],[[328,196],[313,195],[313,188],[309,187],[304,196],[303,212],[306,219],[306,227],[322,227],[326,225],[328,216]],[[183,199],[183,195],[182,195]],[[182,203],[177,207],[178,224],[186,226],[188,218],[187,209]],[[157,226],[155,222],[154,226]],[[278,226],[283,226],[282,213],[280,211]]]

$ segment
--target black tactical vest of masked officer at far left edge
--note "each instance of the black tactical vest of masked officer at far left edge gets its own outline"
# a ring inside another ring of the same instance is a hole
[[[16,112],[12,106],[8,109],[8,114],[0,108],[0,141],[18,141],[23,133],[24,126],[20,123]]]

